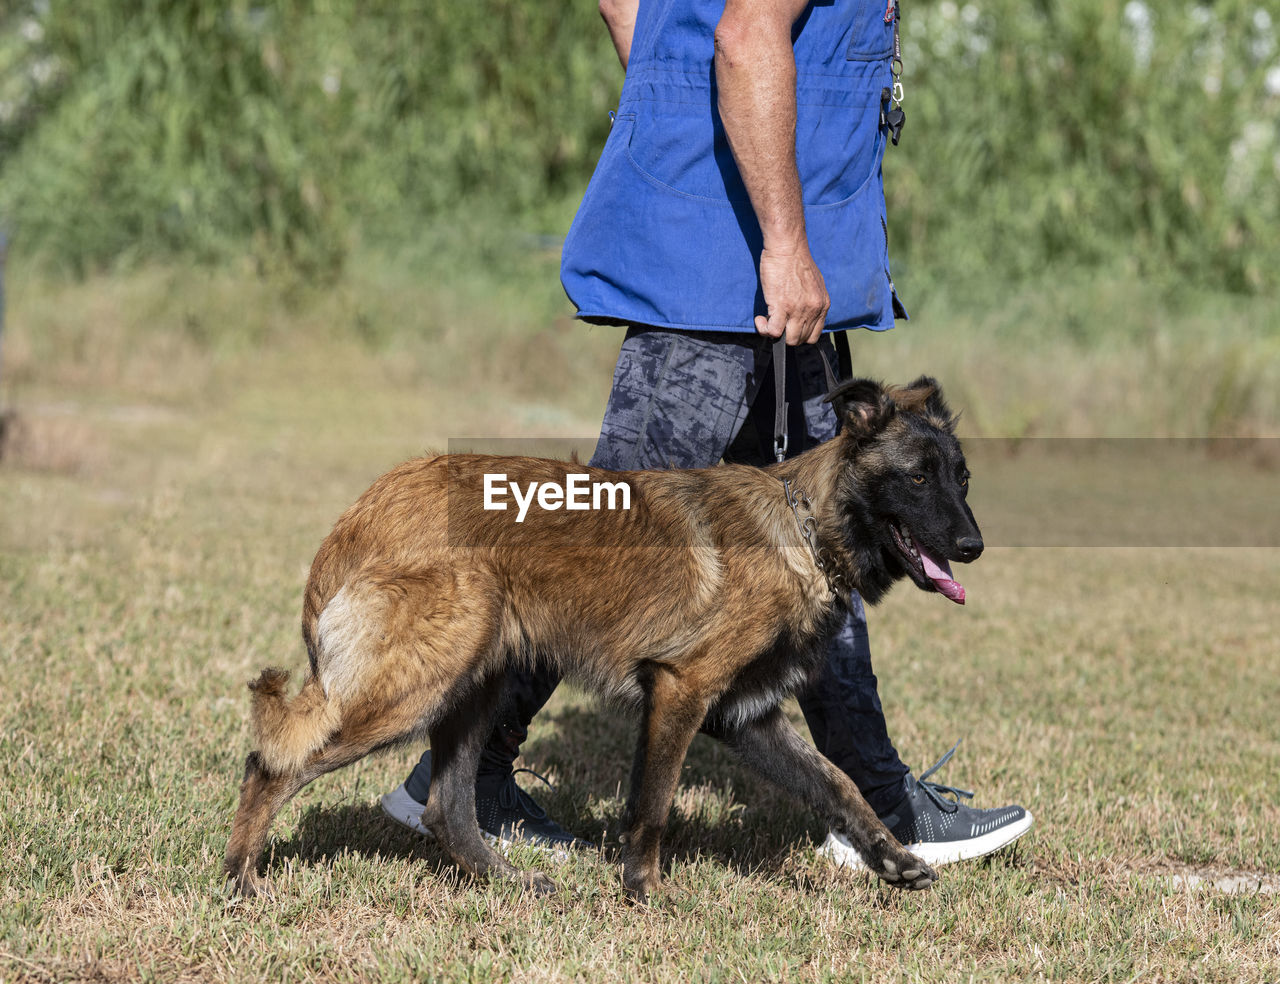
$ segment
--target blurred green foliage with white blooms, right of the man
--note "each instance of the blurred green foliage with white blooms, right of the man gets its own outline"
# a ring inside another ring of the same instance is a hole
[[[906,18],[911,147],[884,170],[911,262],[1280,287],[1276,0],[943,0]]]

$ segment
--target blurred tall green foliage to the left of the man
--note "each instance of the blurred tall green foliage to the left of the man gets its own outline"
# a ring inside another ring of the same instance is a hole
[[[173,251],[335,270],[590,173],[621,82],[591,4],[70,0],[0,24],[0,215],[77,271]]]

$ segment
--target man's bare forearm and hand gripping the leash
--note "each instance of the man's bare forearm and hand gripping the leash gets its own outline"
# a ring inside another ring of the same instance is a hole
[[[809,255],[796,169],[796,63],[791,27],[808,0],[727,0],[716,27],[719,113],[764,234],[755,330],[787,344],[822,337],[831,299]]]

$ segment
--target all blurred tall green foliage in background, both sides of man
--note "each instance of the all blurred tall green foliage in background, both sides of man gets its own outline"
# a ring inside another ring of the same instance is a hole
[[[911,0],[896,262],[1275,290],[1275,5]],[[442,216],[559,224],[620,86],[588,0],[10,0],[0,216],[81,273],[250,251],[323,276]]]

